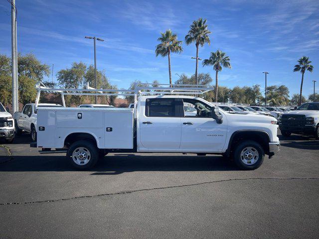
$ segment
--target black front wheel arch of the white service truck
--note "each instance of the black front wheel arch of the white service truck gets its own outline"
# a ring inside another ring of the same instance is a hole
[[[258,142],[264,149],[265,153],[269,153],[269,142],[270,136],[264,130],[237,130],[232,133],[229,139],[228,147],[226,149],[226,155],[230,156],[231,152],[234,150],[237,142],[241,140],[253,140]]]

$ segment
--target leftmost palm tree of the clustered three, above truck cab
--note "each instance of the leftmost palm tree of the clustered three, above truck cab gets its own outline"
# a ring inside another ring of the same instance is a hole
[[[168,56],[168,74],[169,74],[169,86],[171,86],[171,71],[170,71],[170,53],[180,53],[183,51],[181,47],[182,41],[177,40],[176,34],[173,34],[170,29],[165,32],[160,32],[161,36],[158,41],[161,43],[156,46],[156,56]]]

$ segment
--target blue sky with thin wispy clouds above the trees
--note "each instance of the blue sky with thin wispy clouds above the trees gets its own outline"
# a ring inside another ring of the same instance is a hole
[[[18,51],[32,52],[54,72],[74,61],[93,64],[93,40],[97,36],[97,66],[105,70],[112,84],[128,88],[134,80],[168,83],[167,58],[156,57],[160,31],[170,28],[183,40],[189,25],[206,18],[211,44],[199,50],[206,59],[220,49],[231,59],[233,69],[219,74],[219,85],[264,87],[284,84],[290,94],[298,93],[301,74],[294,73],[297,60],[309,56],[313,73],[306,73],[304,95],[319,92],[319,1],[318,0],[16,0],[18,9]],[[9,3],[0,1],[0,53],[10,55]],[[183,44],[184,51],[171,58],[175,73],[192,75],[195,46]],[[210,67],[199,66],[199,73]]]

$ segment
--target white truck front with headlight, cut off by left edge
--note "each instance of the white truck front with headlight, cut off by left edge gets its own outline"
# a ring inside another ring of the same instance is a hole
[[[12,143],[14,138],[14,122],[10,113],[8,113],[0,103],[0,138],[4,138],[6,143]]]

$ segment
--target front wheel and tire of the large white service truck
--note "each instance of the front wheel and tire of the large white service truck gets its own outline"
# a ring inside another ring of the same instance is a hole
[[[263,147],[252,140],[245,140],[234,150],[233,159],[237,167],[244,170],[255,170],[264,162]]]

